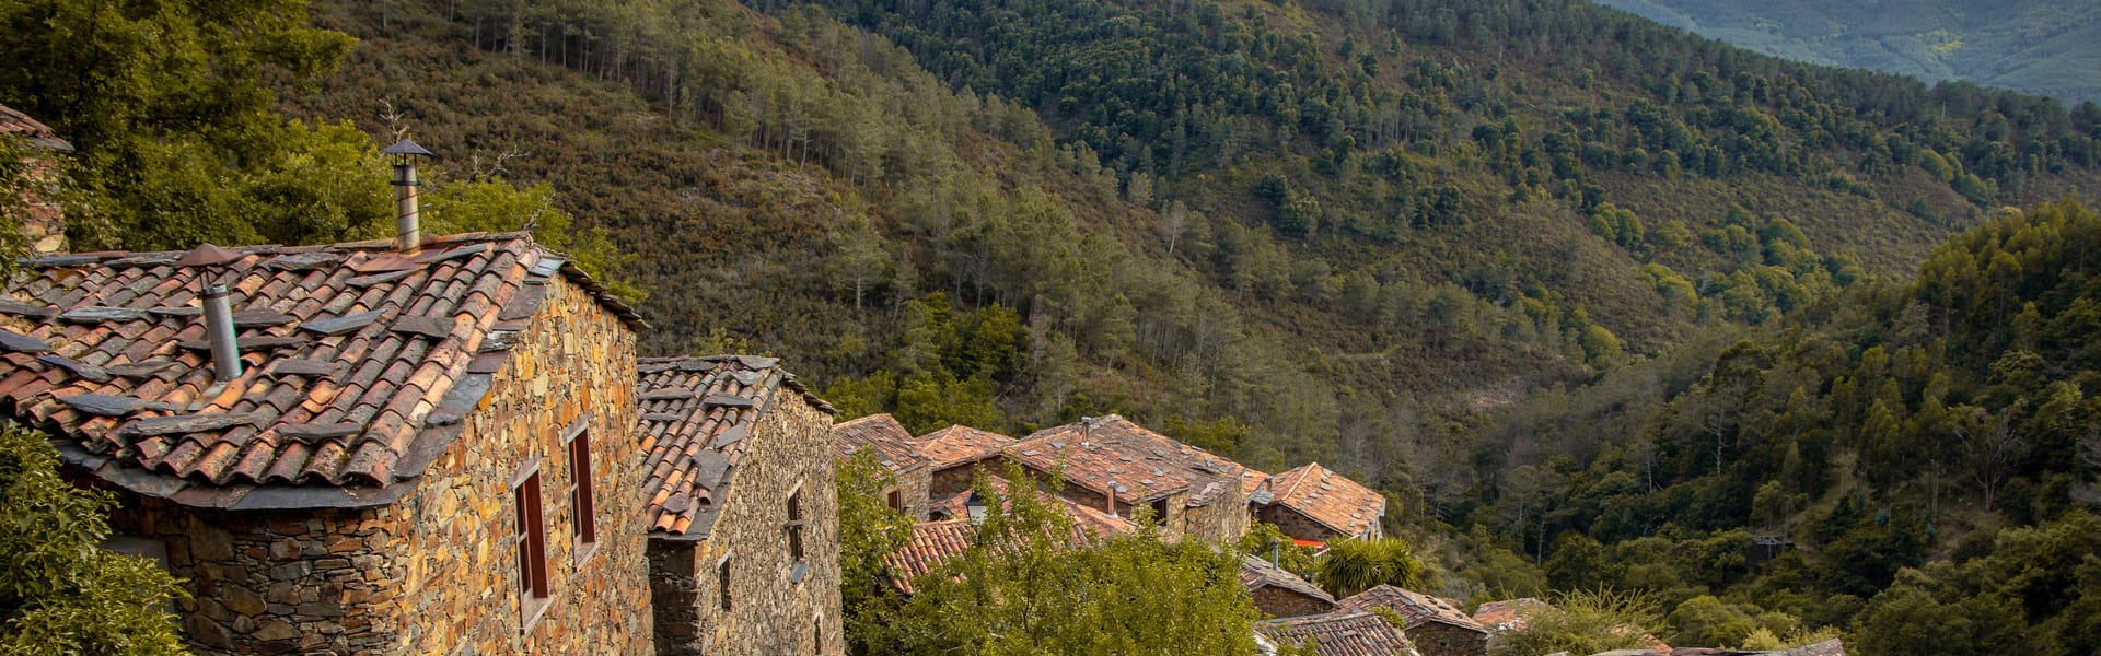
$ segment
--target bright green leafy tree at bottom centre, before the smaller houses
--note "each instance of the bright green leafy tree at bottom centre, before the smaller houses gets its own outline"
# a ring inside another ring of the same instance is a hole
[[[1008,467],[1008,479],[1032,481]],[[1059,481],[1048,484],[1053,490]],[[914,580],[887,627],[861,635],[870,654],[1254,654],[1254,603],[1233,551],[1160,530],[1097,536],[1076,530],[1025,486],[990,509],[964,553]]]

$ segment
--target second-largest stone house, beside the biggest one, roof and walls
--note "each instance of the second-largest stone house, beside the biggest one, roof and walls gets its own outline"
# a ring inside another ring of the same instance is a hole
[[[656,652],[845,652],[832,406],[773,357],[637,372]]]

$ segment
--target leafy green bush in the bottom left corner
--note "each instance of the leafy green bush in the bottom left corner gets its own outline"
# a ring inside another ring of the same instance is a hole
[[[0,654],[185,654],[164,612],[176,580],[97,547],[109,498],[57,465],[42,433],[0,429]]]

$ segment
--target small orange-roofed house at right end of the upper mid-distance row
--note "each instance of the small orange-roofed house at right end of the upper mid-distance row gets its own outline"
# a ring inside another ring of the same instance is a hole
[[[1334,542],[1385,536],[1387,496],[1319,463],[1271,475],[1265,492],[1267,498],[1250,503],[1254,519],[1275,524],[1292,538]]]

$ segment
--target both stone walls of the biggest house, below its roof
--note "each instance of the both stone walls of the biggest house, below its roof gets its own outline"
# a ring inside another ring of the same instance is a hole
[[[204,511],[120,494],[111,528],[166,545],[195,654],[649,654],[635,336],[559,278],[460,437],[376,509]],[[595,450],[597,549],[571,545],[565,433]],[[511,481],[538,463],[546,612],[521,618]],[[580,557],[582,555],[582,557]],[[836,585],[836,574],[834,574]]]

